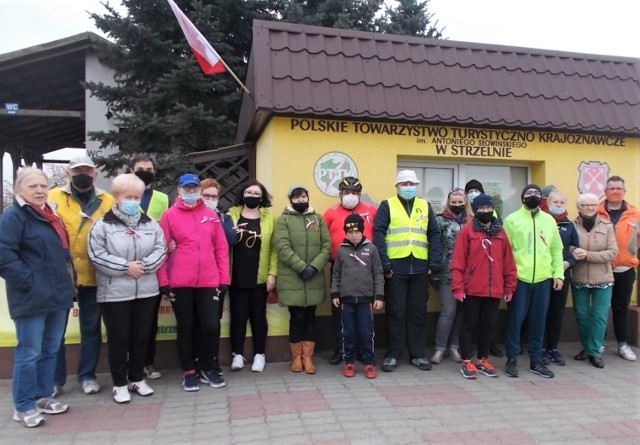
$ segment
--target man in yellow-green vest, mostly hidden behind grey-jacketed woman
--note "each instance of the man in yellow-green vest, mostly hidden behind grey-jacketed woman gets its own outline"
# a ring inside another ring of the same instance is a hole
[[[160,217],[167,208],[169,208],[169,197],[166,193],[162,193],[153,189],[153,180],[156,176],[156,165],[148,154],[139,154],[131,160],[129,171],[135,174],[144,182],[145,189],[140,200],[142,210],[153,218],[156,222],[160,221]],[[148,379],[159,379],[162,377],[160,371],[157,371],[153,362],[156,356],[156,335],[158,334],[158,310],[160,309],[160,295],[154,297],[156,299],[156,316],[151,325],[149,332],[149,341],[147,342],[147,357],[144,364],[144,375]]]

